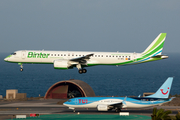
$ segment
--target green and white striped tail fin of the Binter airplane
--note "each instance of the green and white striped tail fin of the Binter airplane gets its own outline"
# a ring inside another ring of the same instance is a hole
[[[165,39],[166,33],[160,33],[156,37],[156,39],[142,53],[142,56],[153,57],[156,55],[161,55]]]

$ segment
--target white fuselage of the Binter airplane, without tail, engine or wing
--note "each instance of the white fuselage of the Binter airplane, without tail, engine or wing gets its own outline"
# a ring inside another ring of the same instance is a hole
[[[87,65],[123,65],[128,61],[136,61],[140,57],[139,53],[120,53],[120,52],[77,52],[77,51],[16,51],[16,55],[5,58],[7,62],[13,63],[47,63],[53,64],[55,60],[70,60],[93,54],[87,60]],[[122,64],[121,64],[122,63]]]

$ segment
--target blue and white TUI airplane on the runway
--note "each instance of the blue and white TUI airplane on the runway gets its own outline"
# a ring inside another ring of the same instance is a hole
[[[155,94],[146,97],[77,97],[69,99],[63,105],[68,106],[74,112],[75,108],[97,108],[98,111],[115,109],[116,112],[120,112],[122,108],[162,105],[173,99],[168,98],[172,82],[173,77],[169,77]]]

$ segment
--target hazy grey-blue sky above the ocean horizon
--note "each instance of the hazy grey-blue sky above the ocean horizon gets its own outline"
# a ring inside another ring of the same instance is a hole
[[[0,52],[143,52],[167,33],[180,53],[180,0],[0,0]]]

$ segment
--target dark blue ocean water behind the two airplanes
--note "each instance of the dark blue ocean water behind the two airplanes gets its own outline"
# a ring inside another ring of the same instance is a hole
[[[54,83],[78,79],[88,83],[98,96],[138,96],[156,92],[168,77],[174,77],[171,95],[180,94],[180,53],[169,53],[168,59],[127,66],[87,67],[86,74],[77,68],[56,70],[53,64],[24,64],[20,72],[17,63],[7,63],[8,53],[0,53],[0,95],[6,89],[18,89],[27,97],[44,96]]]

